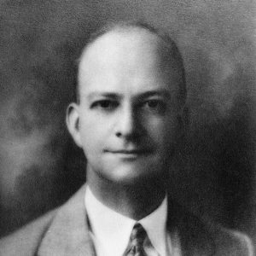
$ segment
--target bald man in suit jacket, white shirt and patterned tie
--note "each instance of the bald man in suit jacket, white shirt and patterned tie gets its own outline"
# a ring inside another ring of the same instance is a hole
[[[4,238],[1,255],[253,255],[247,236],[166,195],[186,95],[170,38],[143,24],[107,26],[84,48],[78,84],[67,128],[84,150],[86,185]]]

